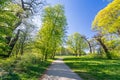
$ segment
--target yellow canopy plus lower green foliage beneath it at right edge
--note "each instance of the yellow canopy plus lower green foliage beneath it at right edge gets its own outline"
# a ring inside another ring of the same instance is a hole
[[[120,35],[120,0],[113,0],[96,15],[92,28],[98,30],[104,36],[104,44],[108,48],[111,57],[118,58]]]

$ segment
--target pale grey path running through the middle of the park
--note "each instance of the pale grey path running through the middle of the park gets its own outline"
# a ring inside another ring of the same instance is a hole
[[[55,60],[49,67],[42,80],[82,80],[76,73],[63,62]]]

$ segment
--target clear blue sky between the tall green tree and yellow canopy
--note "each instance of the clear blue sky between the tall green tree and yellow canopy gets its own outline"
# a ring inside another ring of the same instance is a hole
[[[91,38],[95,32],[91,24],[95,15],[103,9],[110,0],[47,0],[47,3],[63,4],[68,23],[68,35],[79,32]]]

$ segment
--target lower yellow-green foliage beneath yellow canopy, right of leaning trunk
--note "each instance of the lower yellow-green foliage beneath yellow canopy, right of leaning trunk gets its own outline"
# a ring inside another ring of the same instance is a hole
[[[113,59],[120,58],[120,56],[119,56],[120,53],[119,53],[119,49],[118,49],[120,47],[119,39],[120,38],[114,34],[113,35],[108,34],[102,38],[104,44],[107,45],[107,48],[108,48],[110,55]]]

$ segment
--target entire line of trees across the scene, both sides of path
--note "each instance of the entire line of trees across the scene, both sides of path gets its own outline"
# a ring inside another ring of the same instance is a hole
[[[105,53],[112,59],[112,53],[120,48],[119,0],[114,0],[102,9],[93,21],[97,30],[92,39],[74,33],[66,41],[66,17],[62,5],[46,6],[44,0],[2,0],[0,1],[0,56],[9,57],[25,52],[41,54],[42,60],[54,58],[61,49],[76,56],[89,53]],[[33,16],[42,12],[42,24],[37,35]],[[66,42],[66,44],[63,44]]]

